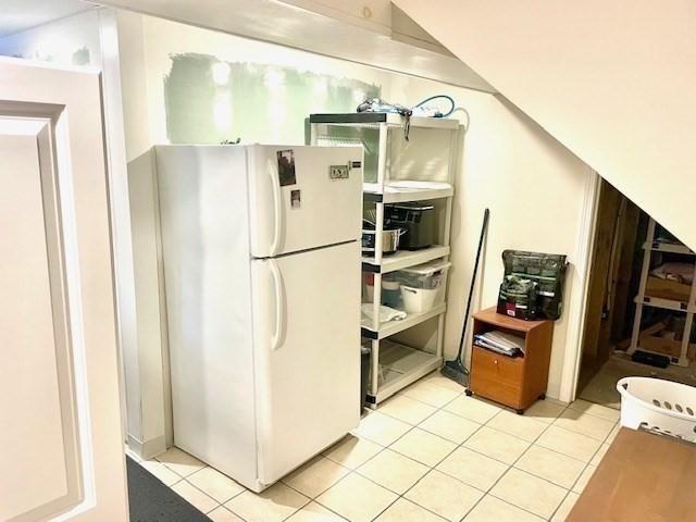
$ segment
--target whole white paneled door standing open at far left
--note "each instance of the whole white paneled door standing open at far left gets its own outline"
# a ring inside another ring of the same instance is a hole
[[[0,59],[0,520],[125,521],[99,76]]]

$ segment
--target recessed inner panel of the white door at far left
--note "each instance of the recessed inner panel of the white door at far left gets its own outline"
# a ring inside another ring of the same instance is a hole
[[[14,470],[0,475],[0,520],[37,506],[60,509],[79,497],[64,296],[60,273],[52,282],[50,277],[51,268],[60,265],[60,246],[53,243],[59,227],[55,214],[45,215],[41,197],[42,185],[47,202],[54,192],[49,173],[42,183],[39,169],[36,135],[46,123],[16,122],[22,123],[33,123],[36,132],[12,136],[7,128],[0,135],[0,288],[3,296],[12,296],[0,300],[0,332],[9,348],[0,396],[22,406],[0,409],[0,445],[9,459],[2,468]],[[4,418],[10,413],[12,418]],[[40,463],[40,473],[23,465],[27,456]],[[13,484],[21,484],[21,489],[14,490]],[[5,494],[11,490],[14,495]]]

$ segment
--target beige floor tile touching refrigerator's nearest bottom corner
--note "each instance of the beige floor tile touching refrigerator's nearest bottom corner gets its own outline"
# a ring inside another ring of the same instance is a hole
[[[226,502],[225,508],[247,522],[279,522],[308,502],[304,495],[278,482],[259,494],[246,490]]]

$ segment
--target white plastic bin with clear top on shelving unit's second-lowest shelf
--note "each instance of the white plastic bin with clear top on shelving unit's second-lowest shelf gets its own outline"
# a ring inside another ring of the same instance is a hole
[[[450,264],[434,261],[399,272],[405,312],[424,313],[445,302],[447,270]]]

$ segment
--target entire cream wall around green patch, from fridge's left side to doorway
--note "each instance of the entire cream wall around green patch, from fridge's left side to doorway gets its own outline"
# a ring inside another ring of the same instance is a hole
[[[171,55],[196,52],[221,61],[247,61],[294,66],[337,78],[357,78],[382,87],[383,96],[414,103],[437,92],[451,94],[469,113],[461,176],[458,181],[452,227],[451,285],[446,319],[446,355],[457,350],[461,316],[483,209],[490,208],[492,221],[485,252],[477,307],[495,303],[502,274],[500,252],[505,248],[566,253],[575,263],[581,213],[588,167],[504,99],[435,82],[417,79],[349,62],[313,55],[269,44],[185,26],[133,13],[120,13],[122,82],[126,114],[128,171],[134,220],[138,286],[138,338],[144,411],[153,417],[149,437],[162,436],[160,408],[166,409],[166,346],[160,325],[164,311],[159,290],[160,252],[156,227],[156,190],[149,148],[167,142],[167,120],[163,78],[171,69]],[[291,103],[291,100],[286,100]],[[321,100],[320,100],[321,101]],[[289,144],[304,141],[303,117],[291,110],[268,112],[277,100],[259,107],[265,127],[252,128],[245,141],[278,138]],[[331,110],[321,107],[316,110]],[[282,108],[281,108],[282,109]],[[295,130],[277,136],[278,122],[291,117]],[[457,113],[465,121],[463,112]],[[571,269],[566,303],[581,293],[582,281]],[[557,323],[554,337],[549,397],[559,397],[564,348],[569,339],[568,319],[576,311],[568,307]],[[166,421],[166,420],[165,420]],[[166,427],[166,422],[164,422]],[[158,433],[160,430],[160,433]]]

